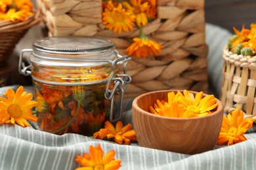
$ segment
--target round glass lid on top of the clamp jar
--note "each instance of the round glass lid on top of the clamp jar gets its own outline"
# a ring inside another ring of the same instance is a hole
[[[37,65],[84,67],[116,59],[113,41],[102,37],[46,37],[33,42],[30,61]]]

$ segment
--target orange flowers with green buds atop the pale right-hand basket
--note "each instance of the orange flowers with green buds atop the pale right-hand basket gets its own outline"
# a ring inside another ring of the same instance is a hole
[[[251,24],[251,29],[245,28],[239,31],[233,27],[235,34],[228,41],[228,50],[233,54],[243,56],[256,55],[256,24]]]

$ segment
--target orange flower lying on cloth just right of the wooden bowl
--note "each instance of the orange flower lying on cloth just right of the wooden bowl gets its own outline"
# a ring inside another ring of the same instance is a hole
[[[245,118],[242,110],[234,110],[228,116],[223,116],[223,124],[217,144],[228,145],[245,141],[244,133],[253,126],[253,118]]]

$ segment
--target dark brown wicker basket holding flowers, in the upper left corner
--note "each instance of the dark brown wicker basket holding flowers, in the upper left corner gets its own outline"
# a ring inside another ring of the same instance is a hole
[[[28,29],[40,21],[39,10],[23,22],[0,21],[0,65],[5,65],[16,44]]]

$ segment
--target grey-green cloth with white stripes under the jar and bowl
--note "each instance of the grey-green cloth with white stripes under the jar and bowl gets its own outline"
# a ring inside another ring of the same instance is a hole
[[[206,41],[209,45],[209,77],[219,94],[221,87],[221,50],[230,33],[215,25],[206,25]],[[213,64],[213,65],[211,65]],[[18,86],[11,86],[16,89]],[[0,88],[0,95],[10,87]],[[33,87],[26,87],[33,93]],[[217,96],[217,95],[215,95]],[[122,121],[132,123],[132,99],[124,103]],[[215,146],[202,154],[186,155],[163,150],[140,147],[138,143],[121,145],[68,133],[54,135],[31,127],[0,125],[0,169],[61,169],[79,167],[76,156],[89,152],[89,146],[100,144],[104,153],[116,150],[116,159],[121,159],[121,169],[256,169],[256,127],[245,134],[247,141],[232,146]]]

